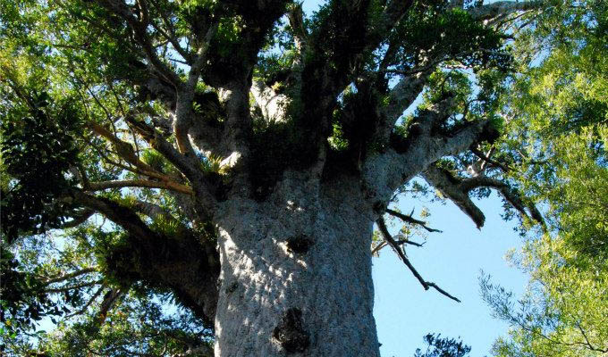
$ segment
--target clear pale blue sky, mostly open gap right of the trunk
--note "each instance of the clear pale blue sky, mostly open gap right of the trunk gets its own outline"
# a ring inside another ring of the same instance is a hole
[[[304,12],[309,14],[322,3],[304,1]],[[508,326],[492,318],[490,309],[481,300],[477,278],[484,270],[515,296],[523,293],[528,276],[504,259],[510,249],[518,249],[522,244],[513,231],[515,222],[501,219],[502,202],[495,194],[478,202],[486,213],[486,225],[481,230],[453,203],[402,200],[399,208],[402,212],[410,212],[412,208],[420,212],[423,205],[432,214],[428,219],[431,227],[442,229],[443,233],[429,234],[422,248],[410,247],[410,262],[426,280],[443,287],[462,303],[433,289],[425,291],[396,254],[385,248],[380,258],[373,261],[374,314],[382,344],[380,352],[383,357],[412,356],[416,348],[424,347],[422,337],[435,332],[460,336],[472,347],[471,357],[489,356],[495,338],[505,335]]]

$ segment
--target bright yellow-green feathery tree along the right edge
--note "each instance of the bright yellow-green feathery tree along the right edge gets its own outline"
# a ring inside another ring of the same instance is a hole
[[[600,1],[578,5],[544,13],[519,46],[528,62],[539,54],[543,59],[512,87],[514,122],[528,137],[514,144],[527,153],[515,176],[546,203],[551,234],[514,256],[532,278],[518,303],[489,279],[482,281],[494,314],[512,327],[511,338],[494,345],[499,356],[608,353],[608,82],[602,75],[608,70],[608,7]]]

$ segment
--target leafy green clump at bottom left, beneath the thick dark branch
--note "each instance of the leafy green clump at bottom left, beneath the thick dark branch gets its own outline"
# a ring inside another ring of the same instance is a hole
[[[98,316],[89,314],[74,324],[60,322],[54,331],[40,334],[36,348],[10,344],[8,352],[74,357],[91,353],[174,355],[207,345],[210,337],[210,331],[197,328],[192,316],[165,296],[127,295],[107,314],[101,327]]]

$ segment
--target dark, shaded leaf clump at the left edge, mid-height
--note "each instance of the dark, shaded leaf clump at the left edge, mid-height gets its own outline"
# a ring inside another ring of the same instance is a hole
[[[23,98],[21,106],[5,108],[0,133],[2,228],[9,242],[22,233],[56,227],[72,208],[58,198],[73,184],[68,170],[78,162],[72,139],[78,114],[71,104],[55,105],[50,100],[42,92]]]

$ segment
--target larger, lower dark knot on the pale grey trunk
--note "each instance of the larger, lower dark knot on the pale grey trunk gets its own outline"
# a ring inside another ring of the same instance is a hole
[[[302,328],[302,311],[292,307],[285,312],[281,323],[273,331],[287,353],[304,352],[310,345],[310,335]]]

